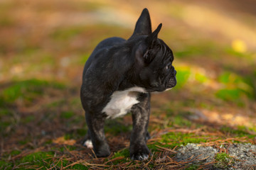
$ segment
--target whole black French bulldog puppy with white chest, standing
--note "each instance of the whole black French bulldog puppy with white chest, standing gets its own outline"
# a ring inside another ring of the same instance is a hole
[[[144,8],[131,38],[103,40],[85,64],[80,91],[88,126],[85,145],[93,146],[97,157],[110,155],[104,134],[105,119],[129,111],[133,120],[130,157],[149,157],[146,140],[150,138],[150,93],[176,85],[173,52],[157,38],[161,26],[152,33],[149,11]]]

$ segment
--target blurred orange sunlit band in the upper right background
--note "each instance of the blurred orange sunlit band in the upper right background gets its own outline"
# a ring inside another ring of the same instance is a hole
[[[189,25],[197,28],[204,28],[211,32],[225,35],[231,40],[240,38],[251,44],[252,49],[256,45],[256,34],[254,28],[245,25],[242,21],[230,17],[221,11],[214,11],[206,6],[196,6],[183,3],[181,18]],[[202,15],[203,13],[203,15]],[[210,18],[210,20],[209,20]],[[241,33],[242,32],[242,33]],[[237,50],[245,50],[241,42],[235,42]]]

